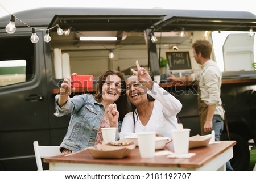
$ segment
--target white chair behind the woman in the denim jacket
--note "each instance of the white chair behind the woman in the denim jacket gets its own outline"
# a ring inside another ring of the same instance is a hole
[[[38,141],[34,141],[33,145],[38,171],[43,171],[42,158],[61,154],[60,146],[39,146]]]

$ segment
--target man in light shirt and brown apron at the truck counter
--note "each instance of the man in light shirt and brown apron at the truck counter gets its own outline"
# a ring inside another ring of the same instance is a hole
[[[198,81],[198,110],[200,116],[201,135],[215,132],[215,140],[220,141],[224,129],[224,109],[221,102],[222,73],[215,61],[210,59],[213,46],[208,40],[196,40],[192,44],[193,57],[201,65],[201,71],[184,77],[167,77],[169,81],[193,82]],[[233,170],[230,162],[226,170]]]

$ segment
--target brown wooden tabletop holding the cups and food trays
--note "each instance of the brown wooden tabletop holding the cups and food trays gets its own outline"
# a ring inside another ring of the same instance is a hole
[[[172,142],[171,142],[172,143]],[[72,164],[97,164],[108,166],[144,166],[144,167],[172,167],[172,168],[186,168],[195,170],[211,162],[214,158],[221,156],[226,151],[233,150],[233,146],[236,145],[236,141],[221,141],[205,147],[198,147],[195,149],[189,149],[189,153],[195,153],[195,156],[191,158],[167,158],[167,156],[155,156],[154,158],[141,158],[139,155],[139,149],[136,147],[131,151],[130,155],[122,159],[97,159],[90,155],[88,150],[78,151],[72,153],[72,155],[57,155],[50,158],[44,158],[44,162],[47,163],[72,163]],[[172,145],[167,145],[164,150],[172,150]],[[161,151],[161,150],[156,150]],[[228,158],[233,157],[228,156]],[[229,159],[225,158],[226,161]],[[221,161],[221,159],[220,159]],[[225,162],[226,162],[225,161]],[[225,164],[224,162],[224,164]],[[223,165],[223,164],[222,164]],[[51,168],[50,168],[51,170]]]

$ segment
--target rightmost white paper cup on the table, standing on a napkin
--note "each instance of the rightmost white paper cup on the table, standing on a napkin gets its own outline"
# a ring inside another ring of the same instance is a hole
[[[174,143],[174,153],[188,154],[190,129],[173,129],[171,132],[172,141]]]

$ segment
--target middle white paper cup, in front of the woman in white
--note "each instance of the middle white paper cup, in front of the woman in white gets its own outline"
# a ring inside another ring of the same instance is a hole
[[[154,158],[156,132],[139,132],[136,134],[141,158]]]

